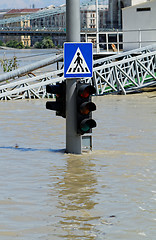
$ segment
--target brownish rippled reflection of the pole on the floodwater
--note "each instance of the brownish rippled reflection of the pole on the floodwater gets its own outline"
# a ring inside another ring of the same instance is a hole
[[[63,239],[95,239],[92,229],[99,217],[92,214],[98,193],[93,168],[91,157],[67,158],[66,170],[56,186],[59,189],[57,207],[62,209],[59,224],[65,232],[60,235]]]

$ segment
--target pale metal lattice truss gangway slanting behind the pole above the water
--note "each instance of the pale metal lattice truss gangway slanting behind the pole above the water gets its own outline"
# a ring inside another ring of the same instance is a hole
[[[34,77],[25,77],[35,69],[61,62],[61,69]],[[0,75],[0,100],[49,98],[46,85],[56,84],[64,78],[63,55],[57,55],[12,72]],[[96,96],[128,94],[156,86],[156,45],[101,57],[94,60],[93,77],[81,82],[91,82]]]

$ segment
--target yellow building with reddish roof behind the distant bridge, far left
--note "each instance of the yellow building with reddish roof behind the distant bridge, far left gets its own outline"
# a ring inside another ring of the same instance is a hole
[[[40,9],[39,8],[25,8],[25,9],[11,9],[7,13],[3,15],[4,19],[7,18],[14,18],[14,17],[20,17],[24,15],[28,15],[31,13],[38,12]],[[7,26],[9,29],[14,29],[14,28],[19,28],[20,30],[30,28],[30,20],[25,20],[25,21],[20,21],[20,22],[13,22],[8,24]],[[3,38],[5,42],[10,41],[10,40],[17,40],[21,41],[24,46],[31,46],[31,37],[30,35],[22,35],[22,36],[5,36]]]

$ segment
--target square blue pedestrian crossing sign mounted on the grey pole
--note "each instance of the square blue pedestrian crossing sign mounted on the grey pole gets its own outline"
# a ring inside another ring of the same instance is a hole
[[[64,43],[64,77],[93,76],[92,43]]]

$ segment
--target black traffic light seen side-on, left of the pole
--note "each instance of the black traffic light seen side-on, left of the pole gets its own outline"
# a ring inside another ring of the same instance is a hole
[[[47,85],[46,92],[56,96],[56,101],[46,102],[46,109],[54,110],[57,116],[66,118],[66,83]]]

